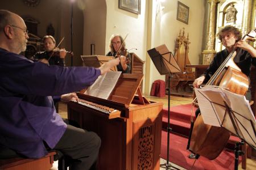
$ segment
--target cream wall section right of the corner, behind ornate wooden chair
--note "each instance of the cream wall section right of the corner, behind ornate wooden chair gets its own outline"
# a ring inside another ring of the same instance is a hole
[[[189,33],[189,61],[191,64],[199,63],[201,55],[203,24],[204,24],[204,0],[183,0],[180,1],[189,7],[188,24],[180,22],[176,19],[177,1],[160,1],[153,0],[152,3],[152,41],[151,48],[166,44],[170,52],[174,53],[175,39],[179,35],[179,31],[185,28],[185,35]],[[164,75],[160,75],[154,64],[151,62],[150,81],[146,86],[150,86],[156,79],[165,80]],[[148,88],[150,90],[150,88]],[[149,91],[145,91],[149,94]]]

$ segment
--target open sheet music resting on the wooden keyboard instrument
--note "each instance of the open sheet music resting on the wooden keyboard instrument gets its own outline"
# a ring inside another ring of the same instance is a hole
[[[104,75],[98,76],[96,81],[92,86],[87,88],[84,94],[99,97],[101,99],[108,99],[115,87],[115,84],[117,84],[121,73],[121,71],[109,71]]]

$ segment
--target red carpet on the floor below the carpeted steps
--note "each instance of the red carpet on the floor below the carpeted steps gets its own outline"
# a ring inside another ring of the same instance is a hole
[[[169,161],[183,167],[191,169],[195,159],[189,159],[191,152],[186,150],[188,139],[176,134],[170,135]],[[167,159],[167,132],[162,130],[161,158]],[[241,162],[241,156],[240,156]],[[209,160],[201,156],[193,169],[234,169],[234,153],[224,150],[214,160]]]

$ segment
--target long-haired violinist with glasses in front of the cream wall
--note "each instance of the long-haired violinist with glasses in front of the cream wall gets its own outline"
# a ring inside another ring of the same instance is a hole
[[[118,52],[118,49],[121,49]],[[127,52],[125,48],[125,42],[123,42],[123,38],[120,35],[112,35],[109,41],[109,49],[110,52],[106,54],[106,56],[117,56],[120,58],[119,65],[117,65],[117,70],[122,71],[122,73],[130,73],[131,71],[131,55]],[[118,54],[117,54],[118,52]]]

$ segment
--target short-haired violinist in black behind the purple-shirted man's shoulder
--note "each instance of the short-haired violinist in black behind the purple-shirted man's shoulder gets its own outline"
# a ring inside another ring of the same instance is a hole
[[[35,61],[47,63],[49,65],[65,66],[66,50],[55,49],[56,41],[53,36],[43,37],[44,52],[38,52],[34,56]]]

